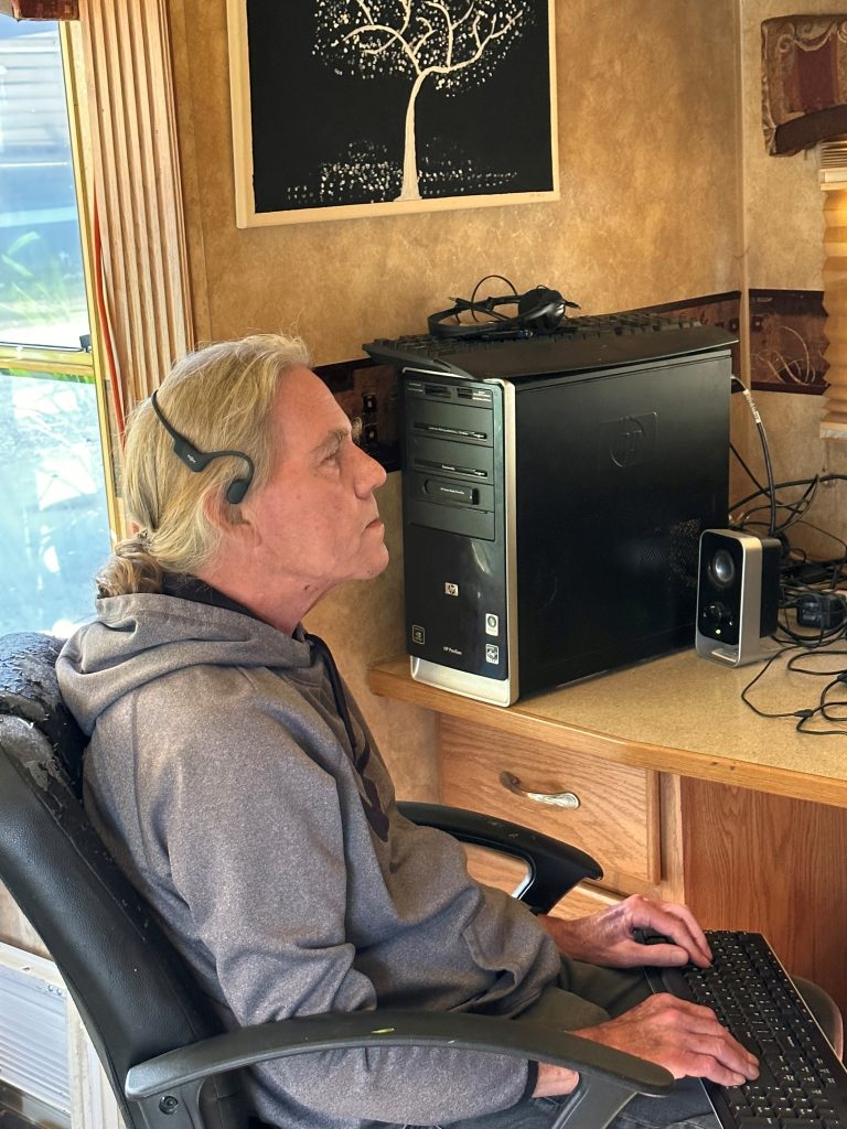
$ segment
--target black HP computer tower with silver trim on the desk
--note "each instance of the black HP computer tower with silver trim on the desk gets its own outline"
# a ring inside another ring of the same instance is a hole
[[[530,371],[513,347],[509,375],[404,367],[414,677],[505,706],[693,644],[699,536],[727,520],[732,340],[700,330],[692,352],[635,340],[582,370],[567,342],[559,365],[526,350]]]

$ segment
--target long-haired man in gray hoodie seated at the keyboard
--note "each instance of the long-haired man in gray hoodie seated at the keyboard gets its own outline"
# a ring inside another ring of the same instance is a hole
[[[184,359],[133,417],[124,472],[138,533],[98,577],[97,620],[66,646],[60,684],[91,735],[91,819],[227,1022],[377,1004],[535,1014],[678,1078],[756,1076],[711,1012],[646,998],[626,971],[638,926],[670,938],[652,963],[708,963],[684,907],[634,898],[536,919],[473,882],[453,839],[399,815],[326,646],[302,627],[388,558],[385,472],[300,342],[259,335]],[[269,1064],[252,1087],[283,1127],[540,1129],[576,1082],[394,1048]],[[690,1082],[628,1118],[711,1123]]]

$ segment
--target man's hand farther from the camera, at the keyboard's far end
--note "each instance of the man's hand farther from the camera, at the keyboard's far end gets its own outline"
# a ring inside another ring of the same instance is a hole
[[[689,962],[706,968],[711,963],[708,943],[691,910],[675,902],[634,894],[591,917],[571,921],[540,917],[539,921],[560,952],[591,964],[631,969]],[[661,935],[667,943],[644,945],[637,939],[639,930]]]

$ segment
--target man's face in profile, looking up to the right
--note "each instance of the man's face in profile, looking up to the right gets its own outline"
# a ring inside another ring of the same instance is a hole
[[[259,537],[265,590],[277,578],[317,599],[344,580],[377,576],[388,563],[374,497],[385,471],[352,441],[326,385],[307,368],[287,373],[272,427],[270,479],[243,504]]]

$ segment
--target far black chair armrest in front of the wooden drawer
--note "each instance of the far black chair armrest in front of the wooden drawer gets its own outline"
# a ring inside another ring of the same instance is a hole
[[[530,873],[517,896],[539,913],[549,912],[583,878],[603,877],[602,867],[591,855],[519,823],[444,804],[402,800],[398,809],[412,823],[522,859]]]

